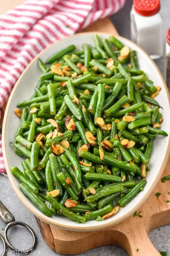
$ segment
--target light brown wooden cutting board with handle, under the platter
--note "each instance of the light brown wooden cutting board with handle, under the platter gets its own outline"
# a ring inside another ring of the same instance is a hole
[[[99,20],[81,32],[85,31],[108,32],[118,35],[109,18]],[[5,107],[3,112],[4,110]],[[170,158],[162,177],[170,174],[169,169]],[[165,183],[159,181],[150,197],[137,211],[141,211],[142,218],[131,216],[118,225],[105,230],[72,232],[50,226],[38,218],[36,220],[44,241],[52,250],[61,254],[75,255],[102,245],[119,245],[130,256],[160,256],[147,234],[156,227],[170,224],[170,203],[165,202],[170,199],[167,194],[167,191],[170,190],[169,185],[170,181]],[[156,197],[156,192],[161,192],[159,198]]]

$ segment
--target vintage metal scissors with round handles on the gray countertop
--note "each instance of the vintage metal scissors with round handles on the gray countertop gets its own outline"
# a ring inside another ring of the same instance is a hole
[[[0,239],[2,240],[2,243],[3,243],[3,252],[1,254],[1,256],[4,256],[6,254],[7,246],[19,254],[30,253],[36,245],[36,236],[35,236],[33,229],[24,222],[15,221],[15,218],[12,215],[12,213],[10,211],[8,211],[8,209],[5,207],[5,205],[3,205],[3,203],[1,201],[0,201],[0,216],[1,216],[2,220],[7,224],[7,226],[4,230],[4,237],[0,234]],[[31,233],[31,235],[33,237],[33,244],[27,250],[21,250],[21,249],[15,248],[8,240],[8,230],[10,227],[15,226],[15,225],[20,225],[20,226],[25,227],[27,230],[29,230],[29,232]]]

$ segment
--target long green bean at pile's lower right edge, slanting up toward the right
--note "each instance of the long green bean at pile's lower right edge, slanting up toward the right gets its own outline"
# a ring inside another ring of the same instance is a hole
[[[117,205],[120,207],[124,207],[127,203],[129,203],[140,191],[141,188],[144,188],[146,185],[146,179],[139,181],[135,184],[135,186],[126,193],[119,201]]]

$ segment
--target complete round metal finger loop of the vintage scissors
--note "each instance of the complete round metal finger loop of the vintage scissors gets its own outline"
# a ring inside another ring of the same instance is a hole
[[[33,244],[31,245],[31,247],[29,247],[28,249],[26,250],[21,250],[21,249],[17,249],[15,248],[11,243],[10,241],[8,240],[8,230],[10,227],[12,226],[15,226],[15,225],[20,225],[20,226],[23,226],[25,227],[27,230],[29,230],[29,232],[31,233],[32,235],[32,238],[33,238]],[[18,254],[28,254],[28,253],[31,253],[32,250],[34,249],[35,245],[36,245],[36,236],[35,236],[35,233],[33,231],[33,229],[28,226],[26,223],[24,222],[21,222],[21,221],[13,221],[13,222],[10,222],[7,224],[5,230],[4,230],[4,239],[5,239],[5,242],[6,244],[8,245],[8,247],[14,251],[16,251]],[[5,254],[4,254],[5,255]],[[3,255],[2,255],[3,256]]]

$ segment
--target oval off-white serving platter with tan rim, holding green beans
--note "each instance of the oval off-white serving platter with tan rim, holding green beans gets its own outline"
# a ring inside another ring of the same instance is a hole
[[[41,57],[43,61],[45,61],[50,55],[54,54],[56,51],[70,45],[75,44],[78,49],[81,49],[81,45],[86,42],[90,45],[93,44],[93,35],[94,33],[80,33],[75,36],[71,36],[65,38],[62,41],[58,41],[57,43],[52,44],[49,48],[42,51],[25,69],[20,79],[16,83],[7,104],[5,116],[4,116],[4,124],[3,124],[3,155],[5,159],[5,167],[7,170],[8,177],[17,193],[20,200],[26,205],[31,212],[41,220],[52,224],[54,226],[64,228],[67,230],[79,230],[79,231],[90,231],[90,230],[99,230],[103,228],[107,228],[111,225],[117,224],[122,220],[128,218],[131,214],[137,210],[148,198],[158,180],[161,177],[161,174],[166,166],[166,162],[169,156],[169,136],[168,137],[157,137],[154,141],[154,150],[150,159],[150,172],[147,173],[147,184],[145,186],[144,191],[139,193],[139,195],[134,198],[126,207],[121,208],[120,212],[105,220],[103,222],[90,221],[84,224],[74,223],[73,221],[65,218],[65,217],[57,217],[48,218],[44,216],[37,208],[35,208],[30,201],[25,198],[25,196],[18,189],[18,181],[11,174],[11,167],[18,166],[21,168],[21,158],[14,154],[14,150],[12,146],[10,146],[9,142],[13,141],[16,129],[19,125],[19,120],[14,115],[13,110],[16,108],[16,105],[19,101],[25,100],[31,97],[36,82],[40,76],[40,71],[37,65],[37,58]],[[101,38],[108,38],[109,34],[107,33],[98,33]],[[158,71],[158,68],[154,64],[154,62],[148,57],[148,55],[140,49],[138,46],[130,42],[129,40],[118,37],[125,45],[128,45],[131,49],[137,51],[138,59],[139,59],[139,67],[144,70],[148,77],[152,79],[155,85],[160,85],[162,87],[161,93],[157,96],[157,100],[160,105],[163,107],[164,121],[162,124],[162,129],[169,133],[170,123],[170,110],[169,110],[169,95],[167,92],[167,88],[163,78]],[[12,127],[12,129],[11,129]]]

